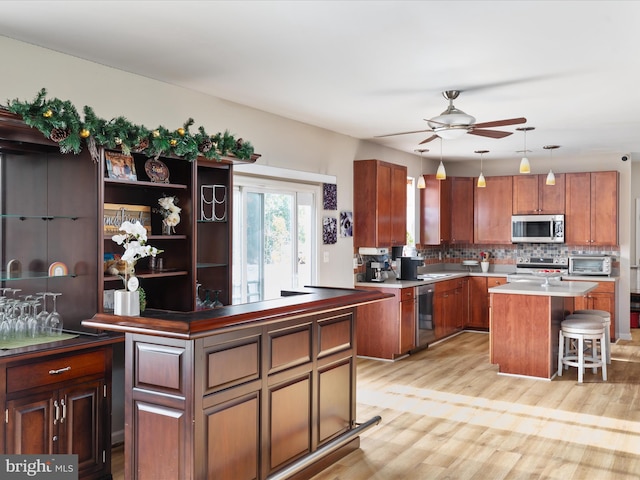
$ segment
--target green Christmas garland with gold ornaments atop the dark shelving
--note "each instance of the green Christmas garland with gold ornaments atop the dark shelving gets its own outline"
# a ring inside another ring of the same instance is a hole
[[[84,140],[96,162],[99,158],[98,146],[120,148],[127,155],[130,152],[142,153],[149,158],[175,155],[189,161],[194,161],[199,155],[217,161],[227,155],[243,160],[249,160],[253,155],[251,143],[242,138],[236,140],[228,131],[209,135],[204,127],[198,127],[198,131],[192,134],[189,132],[193,125],[192,118],[173,131],[163,126],[149,130],[124,117],[106,121],[96,116],[91,107],[85,106],[83,120],[71,102],[46,99],[46,95],[43,88],[33,102],[11,100],[5,108],[20,115],[27,125],[56,142],[62,153],[79,154]]]

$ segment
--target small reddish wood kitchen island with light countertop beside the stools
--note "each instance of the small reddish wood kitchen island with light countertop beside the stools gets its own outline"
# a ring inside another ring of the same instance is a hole
[[[507,283],[489,289],[490,361],[499,373],[551,379],[558,368],[558,335],[573,299],[597,282]]]

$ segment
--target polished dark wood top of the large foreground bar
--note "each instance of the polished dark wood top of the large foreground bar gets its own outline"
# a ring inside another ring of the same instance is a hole
[[[291,315],[357,306],[390,297],[392,295],[376,290],[304,287],[283,291],[280,298],[272,300],[194,312],[147,309],[139,317],[98,313],[82,324],[99,330],[189,339],[207,335],[212,330],[248,326],[257,321],[277,321]]]

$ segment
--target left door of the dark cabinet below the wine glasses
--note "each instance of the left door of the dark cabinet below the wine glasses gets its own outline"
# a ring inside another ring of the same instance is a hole
[[[54,400],[51,392],[45,392],[7,402],[6,453],[53,454],[59,450]],[[56,406],[59,417],[60,405]]]

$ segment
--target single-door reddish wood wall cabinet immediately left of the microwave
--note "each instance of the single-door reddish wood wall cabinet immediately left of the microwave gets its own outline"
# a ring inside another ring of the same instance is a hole
[[[511,243],[513,177],[486,177],[474,187],[474,243]]]

